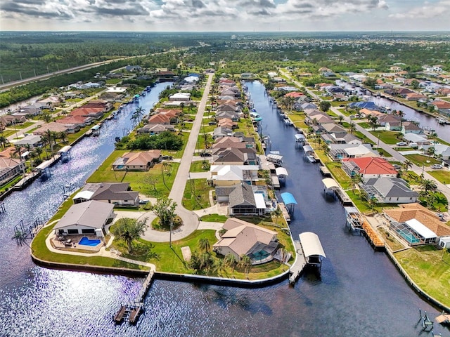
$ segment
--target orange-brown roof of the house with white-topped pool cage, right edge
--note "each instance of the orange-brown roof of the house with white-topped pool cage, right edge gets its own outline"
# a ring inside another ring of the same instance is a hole
[[[387,209],[385,213],[398,223],[405,223],[408,220],[416,219],[428,229],[435,232],[438,237],[450,235],[450,227],[444,225],[436,214],[426,209],[418,203],[401,204],[398,209]]]

